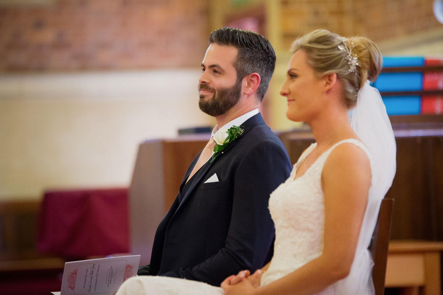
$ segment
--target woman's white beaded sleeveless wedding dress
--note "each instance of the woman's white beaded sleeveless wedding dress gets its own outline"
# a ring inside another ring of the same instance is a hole
[[[299,165],[315,148],[312,144],[294,165],[291,176],[280,184],[269,199],[269,211],[276,227],[276,240],[272,262],[261,278],[261,285],[267,285],[297,268],[319,257],[323,251],[324,200],[321,188],[323,165],[332,150],[339,144],[349,142],[359,146],[369,157],[371,171],[373,160],[368,149],[355,139],[338,142],[324,152],[296,180],[295,172]],[[368,204],[358,238],[357,250],[349,276],[318,294],[321,295],[371,295],[374,294],[371,270],[373,260],[368,251],[373,229],[377,222],[382,196],[374,196],[372,176]],[[344,214],[346,214],[344,212]],[[127,280],[117,295],[223,295],[220,287],[208,284],[159,276],[138,276]]]

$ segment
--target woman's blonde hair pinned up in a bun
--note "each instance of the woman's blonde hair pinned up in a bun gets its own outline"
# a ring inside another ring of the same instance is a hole
[[[355,72],[350,72],[349,61],[346,59],[349,54],[338,48],[343,44],[352,49],[352,55],[357,55],[359,65]],[[375,81],[381,72],[381,52],[374,42],[365,37],[343,38],[327,30],[315,30],[292,43],[292,53],[300,49],[306,52],[308,64],[319,77],[337,74],[348,108],[357,103],[358,90],[365,81]]]

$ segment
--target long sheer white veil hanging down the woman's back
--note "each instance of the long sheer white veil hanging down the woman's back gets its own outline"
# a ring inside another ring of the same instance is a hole
[[[349,112],[355,133],[372,155],[372,186],[361,225],[354,262],[349,276],[338,281],[338,294],[373,295],[373,260],[368,250],[377,223],[381,199],[391,187],[396,171],[396,142],[380,92],[366,81],[358,92],[357,106]]]

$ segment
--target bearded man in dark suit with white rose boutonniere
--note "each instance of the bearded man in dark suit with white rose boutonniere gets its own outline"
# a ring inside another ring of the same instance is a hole
[[[198,105],[215,117],[217,126],[157,228],[151,264],[138,274],[220,286],[227,276],[242,269],[254,272],[271,258],[269,194],[288,178],[291,164],[258,111],[275,68],[269,41],[225,27],[212,32],[209,43]],[[231,126],[243,132],[211,161],[213,138],[221,143],[221,132]]]

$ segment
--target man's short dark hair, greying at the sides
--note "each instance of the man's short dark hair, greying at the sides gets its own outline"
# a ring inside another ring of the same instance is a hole
[[[258,73],[261,81],[257,97],[263,100],[276,65],[276,53],[268,39],[253,31],[224,27],[209,35],[209,43],[237,48],[237,57],[233,61],[237,82],[249,74]]]

